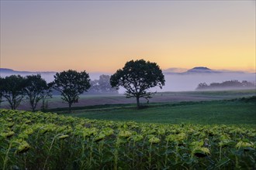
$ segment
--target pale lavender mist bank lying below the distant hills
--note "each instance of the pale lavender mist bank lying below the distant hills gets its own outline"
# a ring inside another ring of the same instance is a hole
[[[54,80],[54,72],[2,72],[0,76],[11,76],[12,74],[28,76],[31,74],[37,74],[51,82]],[[89,73],[91,80],[99,80],[99,76],[102,74],[111,75],[111,73]],[[170,73],[164,72],[165,86],[160,89],[159,87],[151,88],[150,91],[164,92],[164,91],[192,91],[199,85],[199,83],[222,83],[227,80],[247,80],[249,82],[255,82],[255,73],[243,73],[243,72],[209,72],[209,73]],[[124,93],[125,90],[120,87],[119,93]]]

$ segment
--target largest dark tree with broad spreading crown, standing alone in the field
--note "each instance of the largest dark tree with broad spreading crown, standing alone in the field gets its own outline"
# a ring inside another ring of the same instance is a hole
[[[164,82],[164,74],[157,63],[146,62],[144,59],[127,62],[122,70],[117,70],[110,77],[112,87],[124,87],[126,97],[136,97],[138,108],[140,97],[150,98],[153,93],[147,90],[156,86],[162,88]]]

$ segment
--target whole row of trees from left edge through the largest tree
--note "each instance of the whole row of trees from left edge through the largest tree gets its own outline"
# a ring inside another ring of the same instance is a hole
[[[137,107],[140,107],[140,97],[150,98],[153,93],[150,87],[164,86],[164,75],[157,63],[150,63],[144,59],[127,62],[123,69],[117,70],[111,77],[102,75],[99,80],[90,83],[89,75],[85,71],[67,70],[54,75],[54,81],[47,83],[38,75],[0,77],[0,102],[6,99],[15,110],[22,99],[26,97],[33,111],[40,100],[42,109],[47,107],[47,98],[52,97],[53,90],[61,93],[61,99],[67,102],[69,111],[74,103],[78,103],[79,95],[88,91],[118,93],[119,87],[126,89],[126,97],[135,97]]]

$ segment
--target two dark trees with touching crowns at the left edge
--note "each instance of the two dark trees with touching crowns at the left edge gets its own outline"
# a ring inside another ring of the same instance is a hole
[[[33,111],[38,102],[42,100],[42,109],[44,110],[47,98],[52,95],[50,83],[43,80],[40,75],[0,77],[0,84],[0,101],[7,100],[13,110],[19,106],[24,97],[29,99]]]

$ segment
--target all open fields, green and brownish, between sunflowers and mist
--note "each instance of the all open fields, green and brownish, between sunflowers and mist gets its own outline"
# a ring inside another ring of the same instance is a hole
[[[256,96],[256,90],[190,91],[157,93],[145,108],[137,110],[135,99],[123,95],[81,95],[74,104],[74,117],[98,120],[164,124],[256,124],[256,101],[231,100]],[[29,110],[26,102],[19,110]],[[2,104],[4,108],[5,104]],[[60,96],[49,100],[50,112],[67,114]]]

